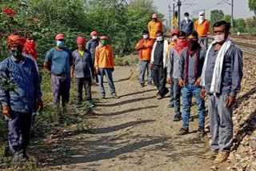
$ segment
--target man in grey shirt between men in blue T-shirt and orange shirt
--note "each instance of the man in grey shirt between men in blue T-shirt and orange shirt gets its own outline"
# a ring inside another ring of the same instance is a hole
[[[82,87],[86,89],[86,101],[91,101],[91,74],[94,74],[94,66],[90,52],[86,50],[86,38],[77,38],[78,50],[74,50],[73,63],[71,68],[71,79],[74,77],[77,85],[78,105],[82,103]],[[91,70],[91,72],[90,72]]]

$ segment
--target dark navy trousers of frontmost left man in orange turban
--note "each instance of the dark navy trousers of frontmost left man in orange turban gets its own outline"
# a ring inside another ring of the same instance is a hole
[[[31,122],[32,112],[11,112],[9,120],[9,145],[11,153],[26,153],[30,143]]]

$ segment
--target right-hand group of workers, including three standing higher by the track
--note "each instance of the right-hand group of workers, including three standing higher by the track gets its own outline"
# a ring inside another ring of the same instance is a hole
[[[169,92],[170,108],[174,108],[173,121],[183,121],[178,135],[190,133],[190,109],[195,97],[198,109],[198,136],[205,134],[205,98],[208,95],[211,150],[204,157],[214,163],[226,161],[233,138],[232,111],[242,82],[242,50],[229,38],[230,23],[216,22],[213,25],[214,42],[208,47],[210,22],[200,12],[193,23],[189,14],[184,14],[181,30],[171,30],[171,41],[163,36],[162,22],[153,14],[148,30],[135,49],[139,54],[139,83],[145,86],[147,70],[148,85],[158,89],[157,99]],[[182,112],[180,98],[182,96]]]

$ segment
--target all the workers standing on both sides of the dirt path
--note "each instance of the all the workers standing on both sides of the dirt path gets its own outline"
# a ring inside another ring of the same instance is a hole
[[[214,42],[208,48],[209,29],[203,12],[195,24],[186,13],[182,30],[171,30],[171,41],[168,42],[163,37],[158,14],[153,14],[148,30],[142,32],[142,39],[135,49],[139,51],[140,85],[145,86],[147,70],[147,84],[154,82],[160,100],[169,93],[166,82],[170,84],[169,105],[174,107],[174,121],[183,121],[178,135],[189,133],[192,96],[196,98],[198,107],[198,135],[204,135],[205,97],[208,94],[212,142],[211,151],[205,157],[214,158],[214,162],[218,163],[226,161],[230,153],[232,106],[241,89],[242,51],[228,38],[230,24],[224,21],[214,23]],[[72,78],[76,81],[78,105],[83,100],[83,87],[86,90],[85,100],[92,100],[92,78],[96,75],[101,97],[106,98],[103,86],[103,77],[106,76],[112,97],[118,98],[112,78],[114,53],[108,44],[108,37],[101,35],[98,38],[96,31],[90,36],[87,44],[86,38],[78,37],[78,49],[71,52],[65,46],[65,35],[57,34],[56,46],[46,53],[44,66],[50,70],[55,108],[59,108],[60,101],[63,108],[69,103]],[[43,103],[34,37],[11,34],[7,46],[10,57],[0,63],[0,101],[2,113],[9,118],[10,151],[14,162],[18,162],[28,158],[26,149],[34,121],[33,113],[41,110]]]

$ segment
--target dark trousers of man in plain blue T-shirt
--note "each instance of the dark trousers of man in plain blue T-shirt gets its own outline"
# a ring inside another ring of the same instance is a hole
[[[51,75],[51,85],[54,93],[54,106],[59,105],[62,97],[62,106],[70,101],[70,77],[58,77]]]

